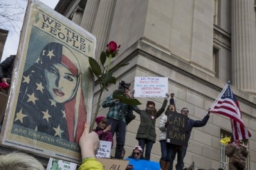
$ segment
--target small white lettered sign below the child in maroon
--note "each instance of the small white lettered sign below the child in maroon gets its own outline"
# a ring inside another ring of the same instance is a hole
[[[96,158],[109,158],[112,142],[100,140],[100,147],[95,155]]]

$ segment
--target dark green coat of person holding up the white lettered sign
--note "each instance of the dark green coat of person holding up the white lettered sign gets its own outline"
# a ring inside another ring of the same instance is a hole
[[[162,107],[153,115],[147,110],[136,109],[136,113],[140,115],[140,126],[138,127],[138,132],[136,139],[144,138],[147,140],[152,140],[156,142],[156,118],[159,117],[164,111],[167,105],[167,99],[164,100]]]

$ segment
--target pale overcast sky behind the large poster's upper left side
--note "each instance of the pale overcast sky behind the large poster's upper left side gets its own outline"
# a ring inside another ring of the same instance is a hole
[[[51,8],[55,8],[59,0],[39,0],[45,3],[47,6]],[[24,14],[26,12],[27,1],[26,0],[0,0],[0,7],[3,3],[10,4],[10,8],[1,9],[1,10],[10,10],[10,12],[15,12],[15,10],[19,10],[23,15],[21,15],[21,20],[24,18]],[[13,8],[12,8],[13,7]],[[0,11],[1,12],[1,11]],[[1,18],[0,18],[1,19]],[[10,22],[0,22],[0,28],[4,30],[9,30],[8,37],[6,39],[6,44],[3,48],[3,55],[1,58],[1,62],[9,57],[10,55],[16,55],[17,49],[19,45],[19,33],[21,31],[23,21],[17,21],[15,24],[15,29],[10,25]]]

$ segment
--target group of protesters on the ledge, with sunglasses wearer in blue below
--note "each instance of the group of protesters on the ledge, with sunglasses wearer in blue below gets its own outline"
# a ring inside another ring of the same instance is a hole
[[[122,83],[123,84],[123,83]],[[133,93],[130,93],[129,90],[130,84],[126,84],[124,95],[127,95],[127,97],[132,98]],[[120,87],[119,88],[123,88]],[[127,165],[127,169],[136,169],[141,162],[140,160],[150,160],[150,153],[153,147],[153,144],[156,142],[156,119],[160,117],[158,128],[161,131],[159,135],[159,142],[161,145],[161,159],[159,161],[159,169],[162,170],[183,170],[183,169],[192,169],[191,166],[188,168],[184,167],[184,158],[185,154],[187,152],[188,146],[179,146],[177,144],[172,144],[172,142],[167,142],[166,139],[166,131],[167,126],[170,124],[167,120],[167,115],[170,114],[169,111],[176,112],[176,106],[174,103],[174,93],[171,93],[170,98],[170,105],[167,106],[167,99],[169,97],[169,94],[166,94],[165,100],[163,101],[163,104],[161,108],[157,111],[155,107],[155,103],[153,101],[147,101],[145,110],[139,109],[137,106],[127,106],[125,104],[122,104],[119,100],[116,100],[113,98],[112,95],[107,97],[107,99],[103,102],[102,106],[104,108],[109,107],[109,112],[107,113],[107,120],[109,120],[108,124],[111,124],[111,131],[112,135],[116,132],[116,159],[122,159],[120,157],[120,153],[122,149],[124,149],[125,144],[125,129],[126,129],[126,122],[125,122],[125,116],[127,115],[128,111],[135,111],[140,115],[140,124],[138,127],[138,131],[136,133],[136,140],[138,140],[138,146],[134,147],[132,154],[127,158],[129,160],[129,164]],[[166,111],[165,111],[165,107]],[[188,117],[189,115],[188,108],[184,107],[181,109],[181,114]],[[210,118],[210,108],[208,109],[208,113],[203,117],[202,120],[192,120],[190,117],[188,117],[187,127],[186,127],[186,133],[188,133],[188,140],[190,139],[190,135],[192,132],[192,129],[194,127],[202,127],[207,124],[208,120]],[[113,123],[113,124],[112,124]],[[188,141],[187,141],[188,142]],[[177,155],[176,165],[174,166],[174,160]],[[138,161],[139,160],[139,161]],[[145,164],[151,164],[152,161],[145,163]],[[153,166],[153,165],[151,165]],[[232,165],[230,165],[232,167]],[[155,167],[155,169],[157,169]]]

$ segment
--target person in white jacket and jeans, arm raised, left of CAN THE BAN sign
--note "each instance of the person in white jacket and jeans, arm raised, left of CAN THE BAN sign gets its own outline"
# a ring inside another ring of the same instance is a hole
[[[161,115],[158,128],[160,129],[160,136],[159,142],[161,144],[161,159],[160,159],[160,166],[162,170],[170,168],[170,160],[172,157],[172,144],[166,142],[166,128],[169,124],[167,122],[167,113],[168,111],[176,111],[175,104],[174,104],[174,93],[171,94],[170,105],[167,106],[167,109],[164,114]]]

